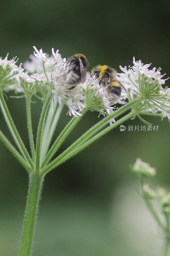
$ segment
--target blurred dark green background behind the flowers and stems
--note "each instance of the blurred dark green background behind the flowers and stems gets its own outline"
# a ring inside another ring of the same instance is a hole
[[[155,1],[4,1],[0,4],[0,56],[29,59],[32,46],[63,57],[86,55],[89,70],[107,64],[120,72],[132,58],[169,72],[170,2]],[[169,84],[169,81],[166,83]],[[29,148],[24,99],[7,100]],[[41,103],[33,105],[36,134]],[[55,137],[69,120],[64,110]],[[87,113],[64,149],[98,121]],[[169,122],[152,120],[158,132],[120,132],[119,127],[50,172],[45,179],[34,236],[34,256],[157,256],[163,240],[138,196],[129,164],[137,157],[157,167],[152,181],[170,190]],[[2,131],[10,136],[2,113]],[[142,125],[135,119],[125,123]],[[0,255],[17,255],[28,189],[28,175],[0,142]]]

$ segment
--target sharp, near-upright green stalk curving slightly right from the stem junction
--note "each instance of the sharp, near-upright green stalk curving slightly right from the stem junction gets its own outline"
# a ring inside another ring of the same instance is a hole
[[[51,100],[52,93],[50,92],[48,94],[48,97],[44,103],[44,106],[42,108],[42,113],[41,113],[41,118],[40,118],[40,123],[38,127],[38,133],[37,133],[37,145],[36,145],[36,163],[35,163],[35,168],[36,171],[40,171],[40,152],[41,152],[41,140],[42,140],[42,132],[43,132],[43,125],[44,125],[44,119],[46,116],[47,108],[49,105],[49,102]]]

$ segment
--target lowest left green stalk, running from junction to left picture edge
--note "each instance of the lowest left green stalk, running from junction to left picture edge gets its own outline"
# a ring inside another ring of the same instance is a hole
[[[18,151],[12,146],[9,140],[4,136],[4,134],[0,131],[0,138],[7,146],[7,148],[12,152],[12,154],[18,159],[18,161],[26,168],[28,172],[31,172],[31,167],[27,164],[25,159],[18,153]]]

